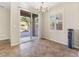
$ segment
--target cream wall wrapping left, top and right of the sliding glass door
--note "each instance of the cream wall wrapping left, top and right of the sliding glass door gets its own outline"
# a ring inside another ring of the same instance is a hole
[[[38,14],[38,39],[40,39],[41,35],[41,25],[40,25],[40,13],[37,13],[36,11],[33,11],[32,9],[27,9],[24,8],[24,6],[19,5],[19,2],[16,3],[11,3],[11,8],[10,8],[10,43],[11,47],[19,45],[20,44],[20,10],[25,10],[34,14]],[[17,26],[16,26],[17,24]]]

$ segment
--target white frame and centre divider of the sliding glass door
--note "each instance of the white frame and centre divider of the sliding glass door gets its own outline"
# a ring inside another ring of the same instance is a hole
[[[37,12],[33,12],[33,11],[31,11],[30,9],[26,9],[26,8],[23,8],[23,7],[20,7],[20,9],[19,9],[19,11],[20,10],[24,10],[24,11],[27,11],[27,12],[30,12],[31,13],[31,28],[32,28],[32,15],[33,14],[37,14],[38,15],[38,40],[41,38],[41,27],[40,27],[40,15],[41,14],[39,14],[39,13],[37,13]],[[20,22],[19,22],[20,23]],[[19,28],[20,29],[20,28]],[[32,31],[32,29],[30,29],[31,31]],[[31,33],[31,32],[30,32]],[[32,33],[30,34],[30,39],[32,39]],[[19,37],[19,41],[20,41],[20,37]]]

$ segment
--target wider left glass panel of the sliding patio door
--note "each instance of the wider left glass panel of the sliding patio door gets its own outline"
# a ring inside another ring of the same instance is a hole
[[[25,43],[30,41],[31,32],[31,13],[20,10],[20,42]]]

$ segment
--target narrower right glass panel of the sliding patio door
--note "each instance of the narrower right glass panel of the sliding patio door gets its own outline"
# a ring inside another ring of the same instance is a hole
[[[38,15],[32,13],[32,40],[38,39]]]

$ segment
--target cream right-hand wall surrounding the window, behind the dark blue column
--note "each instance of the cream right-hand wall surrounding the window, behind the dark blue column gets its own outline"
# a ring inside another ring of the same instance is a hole
[[[56,13],[62,13],[63,15],[63,30],[50,30],[48,16]],[[43,22],[43,37],[52,41],[59,42],[61,44],[68,44],[67,29],[79,30],[79,3],[61,3],[55,5],[44,14]],[[78,38],[78,33],[76,35]]]

